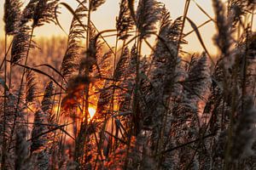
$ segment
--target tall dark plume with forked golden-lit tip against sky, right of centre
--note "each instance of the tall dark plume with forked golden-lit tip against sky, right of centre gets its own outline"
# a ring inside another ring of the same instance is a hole
[[[153,103],[160,102],[160,99],[155,99],[154,95],[162,98],[176,91],[173,90],[175,87],[174,84],[177,82],[178,77],[180,77],[179,74],[181,74],[177,69],[180,59],[179,57],[176,58],[175,55],[177,37],[181,31],[180,18],[172,22],[170,20],[170,14],[166,12],[163,14],[163,20],[161,20],[160,24],[159,36],[162,37],[165,42],[162,42],[160,39],[156,42],[153,54],[154,70],[151,73],[150,79],[154,88],[160,89],[161,92],[158,91],[157,94],[152,92],[153,94],[148,95],[147,98]],[[163,95],[159,95],[159,93]],[[153,103],[149,103],[148,106],[155,108]]]

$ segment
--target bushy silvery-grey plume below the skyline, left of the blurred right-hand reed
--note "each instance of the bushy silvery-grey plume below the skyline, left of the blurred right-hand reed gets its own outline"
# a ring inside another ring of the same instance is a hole
[[[183,99],[181,111],[185,111],[183,116],[186,117],[186,124],[190,122],[190,129],[199,126],[198,105],[200,101],[204,101],[205,95],[211,84],[210,70],[207,61],[207,54],[201,54],[195,58],[193,55],[189,65],[188,77],[183,82]],[[197,130],[197,129],[196,129]],[[192,135],[190,135],[192,136]]]

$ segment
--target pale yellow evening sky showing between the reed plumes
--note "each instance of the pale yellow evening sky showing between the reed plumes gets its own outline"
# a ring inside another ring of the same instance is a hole
[[[137,1],[137,0],[136,0]],[[166,4],[166,8],[170,11],[172,19],[176,19],[178,16],[183,15],[183,8],[186,0],[159,0],[161,3]],[[24,0],[24,4],[28,3],[29,0]],[[73,9],[76,8],[77,2],[76,0],[62,0],[62,2],[68,3]],[[102,31],[106,29],[114,29],[115,28],[115,18],[119,14],[119,2],[120,0],[106,0],[96,12],[91,14],[91,20],[96,25],[97,29]],[[212,18],[214,18],[213,9],[212,9],[212,0],[195,0],[196,3],[199,3],[207,14],[210,14]],[[3,19],[3,3],[4,0],[0,0],[0,18]],[[72,14],[64,8],[61,7],[61,14],[59,14],[59,20],[61,22],[61,26],[65,31],[68,32],[71,20],[73,18]],[[199,8],[196,7],[195,3],[191,1],[189,6],[189,14],[188,17],[195,22],[197,26],[201,25],[203,22],[208,20],[207,16],[201,12]],[[254,22],[255,23],[255,22]],[[3,20],[0,22],[0,37],[3,37]],[[253,26],[255,28],[255,26]],[[184,33],[191,31],[191,27],[189,23],[186,22]],[[255,31],[255,29],[254,29]],[[201,27],[200,29],[201,37],[203,38],[207,49],[211,54],[217,54],[218,50],[214,47],[212,42],[212,37],[216,34],[215,26],[212,22],[208,23],[206,26]],[[36,37],[51,37],[51,36],[65,36],[63,31],[61,31],[59,26],[55,26],[54,24],[44,25],[35,30]],[[201,44],[198,41],[195,33],[189,35],[185,38],[189,44],[183,45],[183,50],[188,52],[202,52]],[[109,42],[113,42],[113,39],[109,39]]]

